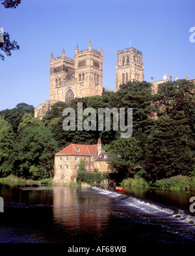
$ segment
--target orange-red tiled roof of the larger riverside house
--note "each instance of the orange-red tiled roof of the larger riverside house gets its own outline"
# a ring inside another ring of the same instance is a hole
[[[98,145],[81,145],[81,144],[70,144],[64,150],[61,150],[59,154],[79,154],[79,155],[95,155],[97,152]]]

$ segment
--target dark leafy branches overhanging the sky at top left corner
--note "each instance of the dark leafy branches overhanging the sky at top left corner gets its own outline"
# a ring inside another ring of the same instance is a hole
[[[16,8],[21,3],[21,0],[0,0],[1,4],[5,8]],[[0,31],[0,34],[2,32]],[[0,35],[2,37],[2,35]],[[3,42],[0,43],[0,50],[5,52],[6,56],[11,56],[12,50],[19,50],[19,45],[15,40],[10,41],[10,35],[8,33],[3,33]],[[4,61],[5,57],[3,54],[0,54],[0,59]]]

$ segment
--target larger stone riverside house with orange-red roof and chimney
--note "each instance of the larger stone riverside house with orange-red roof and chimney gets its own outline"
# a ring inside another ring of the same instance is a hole
[[[53,184],[68,185],[70,182],[74,182],[81,159],[85,160],[86,172],[94,172],[95,159],[101,152],[103,150],[100,138],[98,139],[98,144],[94,145],[68,145],[55,154]]]

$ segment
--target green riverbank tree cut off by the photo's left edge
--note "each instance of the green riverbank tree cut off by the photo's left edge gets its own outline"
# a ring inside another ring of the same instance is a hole
[[[12,172],[14,148],[14,132],[8,121],[0,116],[0,176],[5,177]]]

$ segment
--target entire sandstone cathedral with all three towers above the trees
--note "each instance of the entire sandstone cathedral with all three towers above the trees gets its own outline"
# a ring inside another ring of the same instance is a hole
[[[126,84],[129,80],[144,80],[144,67],[142,52],[131,47],[119,50],[116,64],[116,91],[120,84]],[[50,56],[50,82],[49,100],[34,109],[34,117],[42,119],[51,108],[52,104],[62,101],[70,103],[79,97],[101,95],[103,91],[111,90],[103,87],[103,49],[92,49],[92,43],[88,49],[79,51],[75,48],[75,56],[66,57],[62,51],[61,57]]]

